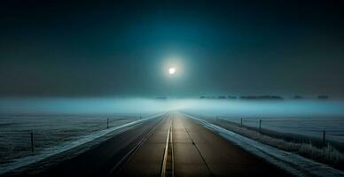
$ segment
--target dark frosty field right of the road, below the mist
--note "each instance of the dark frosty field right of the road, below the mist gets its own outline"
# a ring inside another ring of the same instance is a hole
[[[317,138],[323,143],[344,143],[344,118],[238,118],[200,115],[203,119],[226,120],[237,126],[258,132],[270,130],[280,134],[303,135]]]

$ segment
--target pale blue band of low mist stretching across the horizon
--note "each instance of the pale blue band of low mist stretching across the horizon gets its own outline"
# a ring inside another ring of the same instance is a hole
[[[225,116],[343,116],[341,100],[212,100],[146,98],[8,98],[3,113],[150,113],[185,111]]]

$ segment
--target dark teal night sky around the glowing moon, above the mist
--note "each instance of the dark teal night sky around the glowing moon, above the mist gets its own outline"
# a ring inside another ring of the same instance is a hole
[[[0,96],[344,96],[340,1],[87,2],[1,1]]]

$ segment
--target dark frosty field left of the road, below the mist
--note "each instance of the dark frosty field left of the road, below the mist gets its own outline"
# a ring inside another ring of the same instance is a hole
[[[106,128],[121,126],[150,115],[100,118],[12,118],[0,117],[0,163],[40,153],[63,142]]]

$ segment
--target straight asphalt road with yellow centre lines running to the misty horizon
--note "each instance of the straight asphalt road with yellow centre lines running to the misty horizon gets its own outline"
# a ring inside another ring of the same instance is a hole
[[[178,112],[115,135],[43,172],[16,176],[290,176]]]

